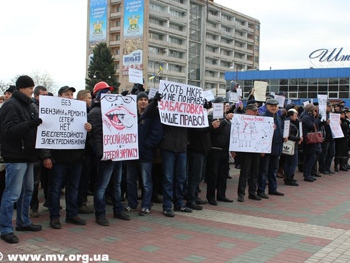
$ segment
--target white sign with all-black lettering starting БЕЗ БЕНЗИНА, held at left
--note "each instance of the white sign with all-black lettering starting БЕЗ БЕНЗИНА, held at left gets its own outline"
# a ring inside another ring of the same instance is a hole
[[[37,149],[84,149],[87,112],[85,101],[40,96],[39,118],[43,123],[36,134]]]

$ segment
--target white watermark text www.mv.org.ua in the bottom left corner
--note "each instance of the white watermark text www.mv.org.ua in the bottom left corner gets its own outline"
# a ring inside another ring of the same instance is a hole
[[[6,260],[9,262],[108,262],[109,255],[107,254],[3,254],[0,252],[0,261]]]

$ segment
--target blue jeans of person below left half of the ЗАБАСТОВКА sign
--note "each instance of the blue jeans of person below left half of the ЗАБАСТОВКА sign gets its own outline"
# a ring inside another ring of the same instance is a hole
[[[163,168],[163,211],[184,206],[184,185],[186,183],[187,154],[161,150]],[[174,193],[175,191],[175,193]]]

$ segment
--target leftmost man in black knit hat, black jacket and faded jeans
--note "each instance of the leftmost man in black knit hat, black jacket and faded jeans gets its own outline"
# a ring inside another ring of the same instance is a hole
[[[29,219],[29,206],[34,186],[34,163],[39,160],[35,150],[37,126],[42,123],[32,105],[34,81],[20,76],[16,91],[4,103],[0,112],[1,155],[6,165],[6,187],[1,200],[1,239],[18,243],[13,233],[12,216],[17,202],[17,231],[40,231]]]

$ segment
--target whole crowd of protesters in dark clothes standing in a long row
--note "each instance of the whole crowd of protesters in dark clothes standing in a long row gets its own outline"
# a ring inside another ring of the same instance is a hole
[[[236,87],[234,87],[236,89]],[[43,86],[35,86],[29,76],[20,76],[15,86],[5,92],[0,109],[1,160],[0,165],[0,232],[8,243],[19,242],[14,234],[12,216],[17,210],[16,231],[40,231],[30,217],[39,217],[38,189],[43,188],[43,206],[49,210],[50,227],[61,229],[61,193],[65,194],[65,222],[86,225],[79,214],[95,215],[95,221],[108,226],[106,204],[113,207],[113,217],[130,220],[130,211],[140,216],[151,212],[152,203],[163,204],[163,215],[174,217],[174,211],[191,213],[202,210],[209,203],[233,202],[227,193],[230,178],[230,157],[240,169],[237,201],[248,198],[260,201],[269,195],[284,196],[278,190],[277,177],[287,186],[298,186],[294,175],[303,172],[306,182],[316,181],[321,174],[332,175],[347,171],[350,110],[341,104],[327,102],[326,116],[320,116],[318,106],[287,104],[267,94],[266,101],[257,102],[251,96],[243,102],[230,103],[228,97],[216,97],[213,103],[223,104],[222,118],[214,118],[212,103],[205,101],[208,127],[187,128],[164,125],[160,121],[158,102],[142,85],[135,85],[130,94],[136,95],[138,151],[137,160],[104,160],[103,118],[101,101],[113,91],[106,82],[98,82],[93,91],[79,91],[77,100],[86,102],[87,131],[85,149],[35,149],[40,97],[52,95]],[[76,89],[63,86],[58,97],[74,99]],[[10,94],[9,94],[10,93]],[[34,94],[34,97],[33,97]],[[125,96],[128,92],[123,92]],[[123,98],[123,97],[122,97]],[[344,137],[333,138],[329,114],[340,114]],[[266,116],[273,119],[271,149],[268,153],[230,152],[231,125],[235,114]],[[322,118],[324,117],[324,118]],[[123,122],[123,116],[114,116]],[[120,119],[119,119],[120,118]],[[284,137],[284,123],[290,123],[289,136]],[[300,125],[299,123],[302,123]],[[302,127],[302,133],[299,130]],[[323,141],[309,144],[306,135],[322,131]],[[302,135],[303,136],[302,136]],[[294,143],[293,154],[283,154],[284,142]],[[202,182],[206,183],[206,198],[200,198]],[[87,204],[93,195],[93,208]],[[161,198],[162,197],[162,198]],[[140,207],[139,207],[140,202]]]

